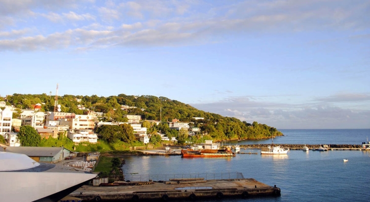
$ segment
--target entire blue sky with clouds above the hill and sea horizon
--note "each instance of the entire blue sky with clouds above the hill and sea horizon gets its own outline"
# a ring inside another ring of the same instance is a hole
[[[153,95],[370,128],[368,0],[0,0],[0,95]]]

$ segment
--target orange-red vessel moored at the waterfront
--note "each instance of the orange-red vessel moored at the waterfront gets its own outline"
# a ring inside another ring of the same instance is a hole
[[[235,153],[229,147],[225,149],[204,149],[204,150],[181,150],[183,158],[196,158],[196,157],[234,157]]]

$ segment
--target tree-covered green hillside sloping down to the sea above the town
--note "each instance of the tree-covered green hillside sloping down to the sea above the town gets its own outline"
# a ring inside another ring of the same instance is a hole
[[[42,103],[42,111],[54,110],[54,96],[13,94],[2,99],[7,105],[17,108],[32,109],[34,104]],[[223,117],[219,114],[198,110],[180,101],[155,96],[127,96],[119,94],[108,98],[92,96],[64,95],[58,97],[62,112],[82,114],[90,109],[105,114],[103,121],[123,121],[124,114],[141,115],[143,120],[162,120],[162,122],[179,119],[181,122],[192,122],[190,125],[199,127],[201,134],[210,135],[215,141],[235,139],[261,139],[271,135],[282,135],[276,128],[259,124],[247,123],[232,117]],[[85,107],[78,109],[78,105]],[[121,110],[121,105],[135,106]],[[14,113],[14,117],[18,114]],[[194,120],[192,117],[203,117],[204,120]]]

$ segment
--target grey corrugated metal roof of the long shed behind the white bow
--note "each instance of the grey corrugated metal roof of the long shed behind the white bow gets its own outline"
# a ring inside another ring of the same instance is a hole
[[[49,156],[54,157],[63,147],[7,147],[7,152],[26,154],[27,156]]]

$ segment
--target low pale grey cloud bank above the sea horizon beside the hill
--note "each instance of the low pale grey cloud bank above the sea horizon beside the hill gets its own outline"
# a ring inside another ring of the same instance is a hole
[[[350,95],[350,96],[348,96]],[[365,101],[367,94],[338,94],[320,98],[317,103],[274,103],[252,101],[248,97],[230,97],[224,101],[202,104],[190,104],[207,112],[235,117],[252,123],[257,121],[280,129],[298,128],[368,128],[370,126],[370,108],[348,108],[334,106],[331,102]]]

